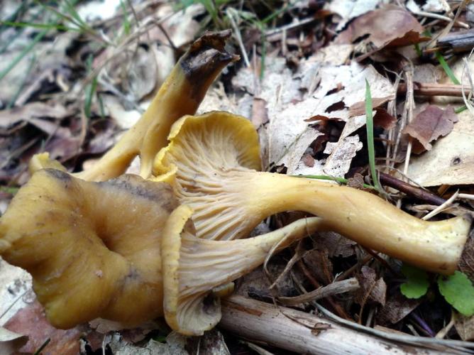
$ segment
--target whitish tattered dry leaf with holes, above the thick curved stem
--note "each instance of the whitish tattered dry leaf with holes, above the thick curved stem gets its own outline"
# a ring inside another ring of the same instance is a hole
[[[273,115],[269,111],[270,161],[287,166],[289,174],[297,172],[304,151],[317,138],[317,135],[310,136],[304,133],[311,124],[305,120],[314,116],[324,116],[346,121],[347,128],[340,138],[343,140],[365,124],[365,114],[351,116],[348,109],[353,104],[364,101],[365,79],[370,83],[373,98],[395,97],[395,90],[390,81],[378,74],[370,65],[364,67],[353,62],[351,65],[322,66],[318,75],[321,81],[314,93],[310,93],[300,102],[287,105],[285,109]],[[291,155],[288,155],[289,153]],[[298,170],[301,170],[301,167]],[[321,175],[319,166],[305,171]]]

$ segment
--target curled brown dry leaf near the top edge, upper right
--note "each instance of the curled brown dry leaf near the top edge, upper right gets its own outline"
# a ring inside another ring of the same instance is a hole
[[[357,38],[368,35],[365,42],[371,42],[377,50],[419,43],[424,28],[411,13],[402,7],[387,5],[382,9],[365,13],[341,32],[334,43],[353,43]]]

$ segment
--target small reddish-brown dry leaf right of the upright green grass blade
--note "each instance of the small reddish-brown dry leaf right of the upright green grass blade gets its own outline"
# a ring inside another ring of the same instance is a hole
[[[415,138],[421,144],[421,147],[414,146],[413,151],[414,153],[422,153],[431,150],[430,142],[451,133],[454,123],[457,121],[458,116],[451,106],[443,110],[435,105],[429,105],[404,128],[402,133]]]

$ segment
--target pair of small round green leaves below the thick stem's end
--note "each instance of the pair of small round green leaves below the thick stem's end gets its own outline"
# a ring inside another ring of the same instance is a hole
[[[402,294],[407,298],[419,298],[426,295],[429,289],[429,278],[426,271],[404,264],[402,273],[407,282],[400,286]],[[474,315],[474,286],[465,273],[456,271],[453,275],[436,277],[439,292],[455,310],[462,315]]]

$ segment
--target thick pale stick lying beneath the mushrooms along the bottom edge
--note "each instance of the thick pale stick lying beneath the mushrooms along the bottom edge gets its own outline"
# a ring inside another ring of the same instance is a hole
[[[420,337],[387,333],[387,337],[404,339],[402,344],[349,329],[323,317],[286,307],[275,307],[241,296],[222,300],[222,319],[219,326],[240,337],[265,342],[299,354],[456,353],[452,348],[442,345],[438,345],[436,350],[413,345]]]

